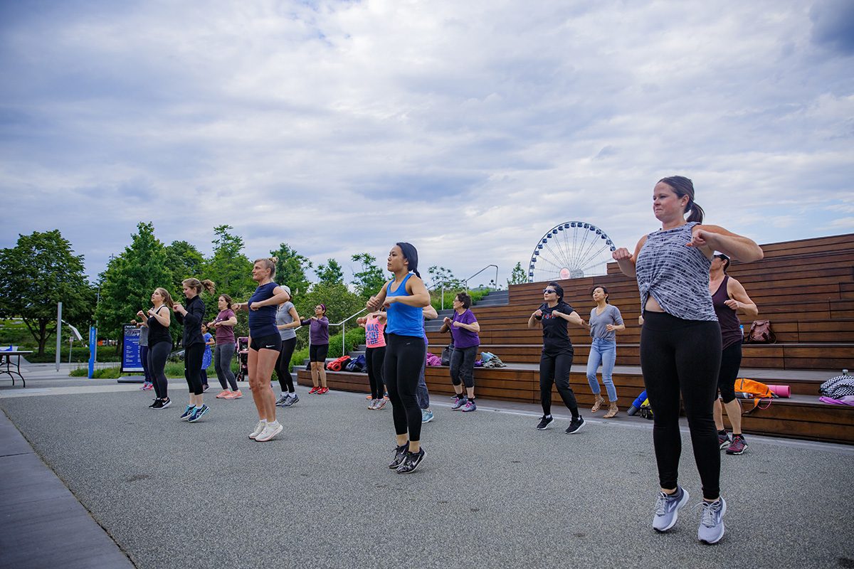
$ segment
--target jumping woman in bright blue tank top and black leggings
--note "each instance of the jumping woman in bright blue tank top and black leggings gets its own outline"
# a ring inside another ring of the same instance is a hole
[[[395,460],[389,468],[411,473],[424,458],[416,389],[426,355],[422,308],[430,305],[430,293],[418,274],[418,251],[409,243],[397,243],[391,248],[387,268],[395,278],[368,300],[367,307],[376,311],[385,306],[388,318],[383,378],[397,435]]]

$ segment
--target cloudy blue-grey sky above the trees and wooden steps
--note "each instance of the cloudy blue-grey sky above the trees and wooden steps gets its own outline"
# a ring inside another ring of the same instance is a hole
[[[93,276],[153,221],[503,280],[562,222],[633,247],[671,174],[760,243],[854,232],[848,0],[0,0],[0,42],[0,247]]]

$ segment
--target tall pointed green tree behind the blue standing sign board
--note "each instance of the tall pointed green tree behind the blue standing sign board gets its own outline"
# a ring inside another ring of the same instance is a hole
[[[156,287],[166,288],[173,296],[177,292],[167,268],[166,247],[155,236],[154,224],[140,222],[131,244],[118,257],[111,258],[100,275],[101,300],[95,311],[100,334],[120,340],[121,325],[151,305],[151,293]]]

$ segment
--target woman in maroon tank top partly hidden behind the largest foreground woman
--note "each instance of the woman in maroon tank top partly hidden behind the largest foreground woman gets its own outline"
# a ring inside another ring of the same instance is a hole
[[[721,323],[722,340],[721,371],[717,375],[717,390],[721,397],[715,399],[715,428],[720,447],[726,449],[728,455],[740,455],[746,450],[747,442],[741,434],[741,404],[735,398],[735,380],[738,379],[741,367],[741,342],[744,340],[744,333],[735,313],[742,311],[753,319],[759,315],[759,310],[747,296],[745,287],[727,275],[728,266],[728,255],[717,253],[711,259],[709,270],[709,292],[711,302],[715,305],[717,322]],[[733,426],[732,444],[723,428],[723,407],[727,408],[727,416]]]

